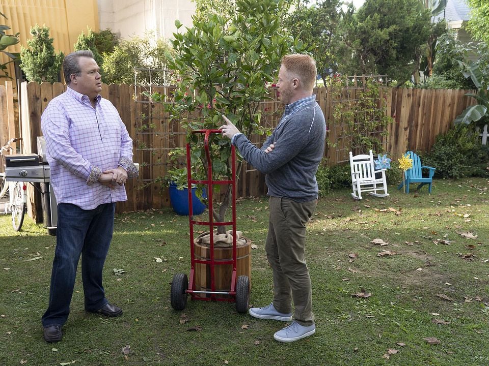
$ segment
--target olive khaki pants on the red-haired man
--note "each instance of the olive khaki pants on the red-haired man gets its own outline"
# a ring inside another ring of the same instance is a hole
[[[314,324],[311,279],[304,251],[306,223],[317,200],[300,203],[288,198],[270,197],[266,256],[274,271],[274,307],[280,313],[292,311],[301,325]]]

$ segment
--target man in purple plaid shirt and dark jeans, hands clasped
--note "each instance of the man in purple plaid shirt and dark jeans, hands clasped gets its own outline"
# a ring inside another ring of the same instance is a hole
[[[76,268],[82,257],[85,310],[117,317],[108,302],[102,269],[114,229],[115,203],[127,200],[124,183],[137,176],[132,140],[114,105],[99,93],[102,81],[91,51],[63,61],[66,92],[41,116],[51,186],[58,201],[58,228],[44,339],[59,342],[68,319]]]

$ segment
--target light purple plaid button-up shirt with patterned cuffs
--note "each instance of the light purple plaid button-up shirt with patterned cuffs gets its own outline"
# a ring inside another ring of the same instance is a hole
[[[49,102],[41,129],[58,203],[93,209],[127,200],[124,186],[111,189],[89,180],[97,171],[117,168],[121,158],[132,161],[132,139],[110,101],[98,96],[94,109],[87,96],[68,87]]]

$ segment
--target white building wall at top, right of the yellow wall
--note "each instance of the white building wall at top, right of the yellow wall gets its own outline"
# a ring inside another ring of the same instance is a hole
[[[110,28],[121,38],[154,32],[173,38],[175,20],[192,25],[195,3],[191,0],[97,0],[100,29]]]

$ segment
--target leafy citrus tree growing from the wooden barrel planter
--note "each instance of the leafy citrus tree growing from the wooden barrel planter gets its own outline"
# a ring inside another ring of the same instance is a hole
[[[193,27],[175,33],[174,54],[167,53],[168,66],[175,70],[179,82],[172,96],[153,94],[154,102],[165,103],[170,117],[177,119],[187,131],[191,142],[192,177],[207,178],[207,159],[201,129],[218,129],[222,115],[247,137],[265,133],[260,128],[259,103],[269,93],[269,85],[280,67],[281,58],[303,48],[300,41],[284,33],[281,20],[289,4],[282,0],[248,2],[237,0],[235,12],[229,17],[209,15],[193,18]],[[175,22],[178,29],[180,22]],[[222,180],[231,175],[231,145],[220,134],[211,134],[209,147],[212,179]],[[239,176],[242,161],[237,164]],[[231,189],[220,185],[213,189],[213,219],[225,221],[231,205]],[[207,202],[207,204],[211,204]],[[225,233],[219,227],[218,233]]]

